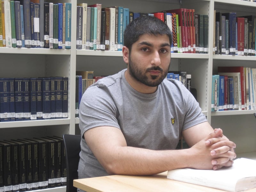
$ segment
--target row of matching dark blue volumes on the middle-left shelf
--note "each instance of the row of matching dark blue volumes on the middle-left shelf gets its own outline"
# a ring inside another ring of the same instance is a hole
[[[68,118],[68,77],[0,78],[1,122]]]

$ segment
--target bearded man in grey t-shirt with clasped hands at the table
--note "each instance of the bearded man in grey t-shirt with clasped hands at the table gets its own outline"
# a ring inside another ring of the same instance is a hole
[[[97,81],[82,97],[79,178],[233,164],[235,143],[221,129],[212,129],[183,84],[164,79],[171,44],[169,28],[155,17],[127,26],[127,70]],[[191,148],[174,150],[180,134]]]

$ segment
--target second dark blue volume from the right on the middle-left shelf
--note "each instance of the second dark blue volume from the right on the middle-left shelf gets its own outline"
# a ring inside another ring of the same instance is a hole
[[[62,118],[62,77],[55,77],[55,119]]]

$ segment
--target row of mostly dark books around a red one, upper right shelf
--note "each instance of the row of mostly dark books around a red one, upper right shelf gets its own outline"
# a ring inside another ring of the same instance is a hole
[[[215,12],[213,54],[255,56],[256,16]]]

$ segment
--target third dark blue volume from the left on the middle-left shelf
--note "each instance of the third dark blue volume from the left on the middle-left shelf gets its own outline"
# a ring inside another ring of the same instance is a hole
[[[15,121],[23,121],[23,78],[14,78]]]

